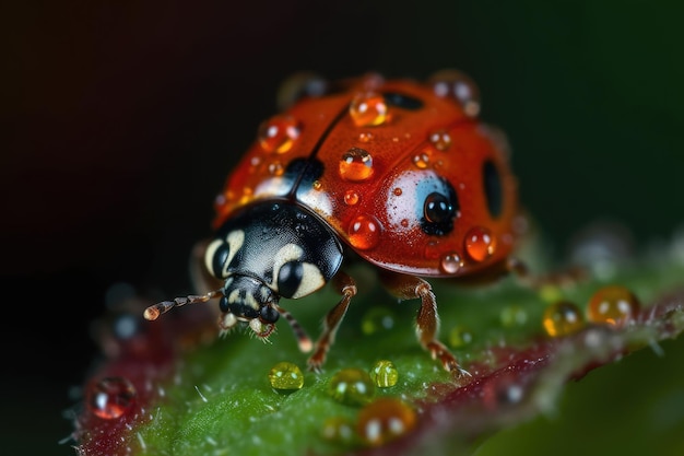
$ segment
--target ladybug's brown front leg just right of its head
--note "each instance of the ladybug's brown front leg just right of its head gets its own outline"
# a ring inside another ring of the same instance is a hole
[[[356,294],[356,282],[342,271],[338,271],[332,278],[332,283],[340,291],[340,294],[342,294],[342,299],[328,312],[328,315],[326,315],[323,331],[316,341],[314,353],[309,356],[307,362],[309,371],[320,372],[320,367],[326,362],[326,355],[334,342],[335,332],[346,314],[350,302]]]

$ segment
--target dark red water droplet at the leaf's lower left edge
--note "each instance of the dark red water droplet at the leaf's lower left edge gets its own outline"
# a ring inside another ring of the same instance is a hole
[[[132,409],[135,387],[123,377],[105,377],[87,391],[87,406],[97,417],[114,420]]]

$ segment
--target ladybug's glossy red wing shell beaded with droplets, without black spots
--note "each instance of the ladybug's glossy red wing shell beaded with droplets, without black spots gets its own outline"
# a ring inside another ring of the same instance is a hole
[[[384,118],[376,113],[378,125],[358,126],[350,113],[355,97],[373,103],[378,100],[374,94],[385,93],[403,94],[423,105],[385,106]],[[215,227],[244,204],[294,198],[327,221],[363,259],[388,270],[457,277],[499,264],[510,254],[517,185],[502,141],[455,98],[437,95],[431,84],[362,78],[342,92],[299,101],[267,121],[261,136],[269,126],[271,142],[255,142],[219,196]],[[284,169],[312,151],[322,173],[293,196],[294,184]],[[485,162],[498,173],[497,214],[491,213],[486,200]],[[416,217],[423,207],[420,183],[435,177],[451,184],[460,207],[452,230],[444,235],[426,233]],[[470,238],[473,233],[480,237]]]

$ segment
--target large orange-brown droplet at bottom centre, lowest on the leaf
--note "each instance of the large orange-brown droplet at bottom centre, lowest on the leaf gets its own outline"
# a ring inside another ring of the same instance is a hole
[[[410,432],[416,423],[415,410],[401,399],[379,398],[358,412],[356,432],[370,446],[380,446]]]

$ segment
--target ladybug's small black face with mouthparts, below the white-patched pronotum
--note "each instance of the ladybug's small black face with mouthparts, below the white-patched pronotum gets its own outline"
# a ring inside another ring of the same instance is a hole
[[[268,337],[280,318],[278,295],[261,280],[249,276],[231,276],[221,290],[219,307],[223,312],[221,327],[233,328],[246,323],[259,337]]]

